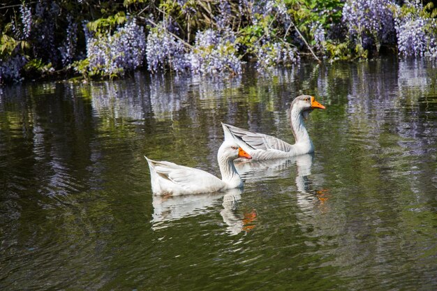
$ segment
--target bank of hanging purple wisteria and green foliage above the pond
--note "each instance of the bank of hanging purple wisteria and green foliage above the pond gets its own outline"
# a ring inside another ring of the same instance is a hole
[[[304,58],[437,60],[436,16],[420,0],[8,0],[0,85],[138,68],[239,75],[244,62],[268,73]]]

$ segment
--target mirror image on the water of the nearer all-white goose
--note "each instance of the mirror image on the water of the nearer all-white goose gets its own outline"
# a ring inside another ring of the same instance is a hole
[[[160,230],[173,225],[176,220],[190,216],[198,216],[214,211],[214,204],[217,204],[220,198],[223,198],[223,209],[220,215],[223,222],[228,225],[226,232],[235,235],[244,230],[244,227],[253,227],[249,225],[255,220],[242,219],[235,214],[237,202],[241,199],[243,190],[240,188],[230,189],[225,192],[179,195],[179,196],[161,196],[153,195],[154,214],[151,220],[152,229]]]

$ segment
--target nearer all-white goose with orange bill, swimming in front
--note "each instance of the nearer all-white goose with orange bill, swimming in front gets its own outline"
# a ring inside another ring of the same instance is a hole
[[[217,160],[221,178],[193,167],[170,162],[152,161],[145,156],[150,168],[151,190],[155,195],[185,195],[226,191],[243,186],[233,161],[251,158],[234,141],[224,141],[218,149]]]

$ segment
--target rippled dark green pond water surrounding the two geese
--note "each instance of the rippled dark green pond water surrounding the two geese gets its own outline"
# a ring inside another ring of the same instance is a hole
[[[380,59],[0,89],[0,289],[436,290],[436,83]],[[219,175],[221,121],[292,143],[299,94],[313,155],[152,195],[143,155]]]

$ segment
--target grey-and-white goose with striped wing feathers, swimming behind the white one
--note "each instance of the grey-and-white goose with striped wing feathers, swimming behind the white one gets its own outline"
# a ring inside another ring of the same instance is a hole
[[[288,158],[314,151],[313,142],[304,125],[304,119],[315,108],[325,109],[325,106],[316,101],[313,96],[297,96],[290,106],[290,123],[295,136],[295,144],[288,144],[279,138],[253,133],[252,131],[223,124],[225,140],[234,140],[249,153],[253,160],[267,160],[269,158]]]

